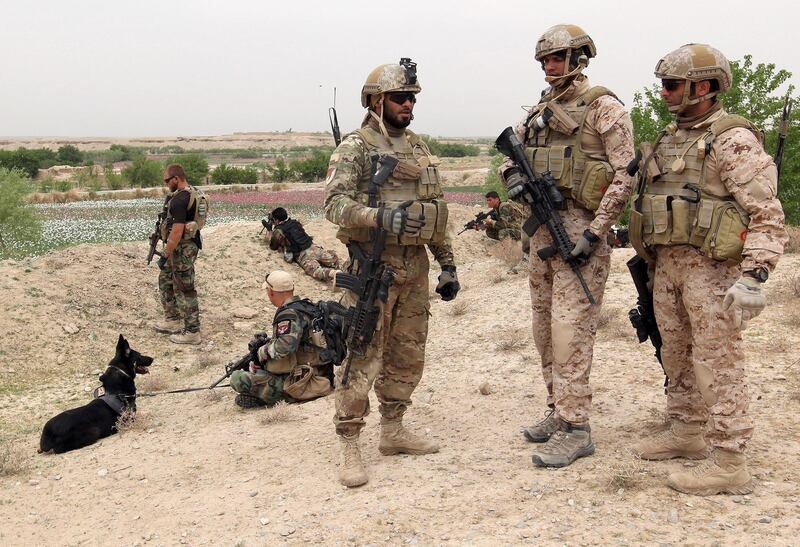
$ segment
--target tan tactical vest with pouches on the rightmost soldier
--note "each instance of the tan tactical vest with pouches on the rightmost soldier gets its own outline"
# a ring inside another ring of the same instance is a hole
[[[723,112],[706,127],[665,130],[652,147],[642,145],[645,159],[630,220],[631,244],[641,256],[648,258],[655,245],[692,245],[720,262],[742,261],[750,217],[725,188],[719,172],[705,163],[714,141],[736,127],[752,131],[763,142],[755,125]]]

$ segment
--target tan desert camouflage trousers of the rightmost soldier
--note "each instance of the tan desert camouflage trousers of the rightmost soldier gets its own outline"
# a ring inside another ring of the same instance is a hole
[[[653,303],[669,377],[667,415],[708,422],[709,444],[735,452],[753,435],[742,334],[732,310],[722,310],[740,274],[738,265],[706,258],[689,245],[657,248]]]

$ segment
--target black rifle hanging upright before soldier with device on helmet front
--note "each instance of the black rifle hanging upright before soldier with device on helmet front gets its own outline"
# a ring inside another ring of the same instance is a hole
[[[397,163],[397,158],[393,156],[383,155],[373,158],[374,170],[369,183],[370,207],[378,206],[379,189],[389,178]],[[407,201],[400,207],[408,207],[410,204],[411,202]],[[394,270],[381,261],[383,248],[386,245],[386,230],[381,227],[376,228],[373,237],[374,243],[370,255],[366,255],[355,242],[347,246],[353,263],[358,265],[358,274],[346,272],[336,274],[336,287],[348,289],[358,296],[358,301],[347,310],[344,320],[347,354],[343,361],[343,386],[347,385],[350,377],[353,357],[363,356],[372,342],[381,313],[379,303],[386,302],[389,297],[389,287],[394,281]]]

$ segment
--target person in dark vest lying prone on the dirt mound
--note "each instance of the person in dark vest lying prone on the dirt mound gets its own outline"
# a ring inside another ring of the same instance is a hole
[[[306,275],[319,281],[332,281],[341,269],[336,253],[314,245],[314,238],[306,233],[300,221],[289,218],[283,207],[270,213],[273,229],[268,232],[269,248],[281,251],[287,262],[297,262]]]

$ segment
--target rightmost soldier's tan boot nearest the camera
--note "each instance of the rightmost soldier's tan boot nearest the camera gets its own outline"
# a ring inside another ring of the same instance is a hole
[[[667,486],[695,496],[742,495],[753,491],[753,478],[744,454],[716,448],[702,465],[670,474]]]

